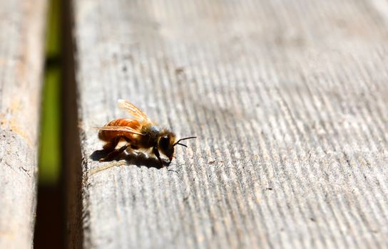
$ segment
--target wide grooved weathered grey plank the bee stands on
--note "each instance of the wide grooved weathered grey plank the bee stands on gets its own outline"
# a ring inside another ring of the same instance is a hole
[[[387,247],[381,6],[75,0],[83,246]],[[98,162],[120,98],[198,139],[167,169]]]

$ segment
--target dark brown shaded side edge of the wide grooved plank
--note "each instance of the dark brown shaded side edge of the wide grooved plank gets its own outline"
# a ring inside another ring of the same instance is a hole
[[[87,215],[82,215],[81,193],[81,144],[78,131],[77,88],[75,78],[76,63],[73,55],[73,1],[62,1],[62,36],[63,36],[63,77],[61,84],[61,146],[62,146],[62,182],[63,209],[66,229],[64,230],[65,248],[82,248],[83,229],[88,229]]]

